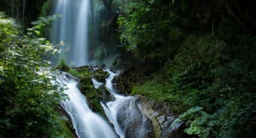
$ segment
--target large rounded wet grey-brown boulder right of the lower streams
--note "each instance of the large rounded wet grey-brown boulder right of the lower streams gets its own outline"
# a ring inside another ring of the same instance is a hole
[[[172,127],[176,115],[166,104],[137,95],[128,97],[117,107],[117,122],[125,137],[186,137],[183,122]]]

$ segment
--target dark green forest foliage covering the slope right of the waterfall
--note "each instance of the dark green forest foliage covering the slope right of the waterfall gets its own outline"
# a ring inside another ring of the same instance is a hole
[[[187,121],[188,134],[255,136],[254,2],[115,0],[114,4],[119,7],[120,46],[129,61],[120,89],[167,102],[172,112],[190,113],[190,118],[180,116]],[[190,107],[196,106],[200,112],[193,114]],[[202,112],[211,119],[197,125],[206,118]]]

